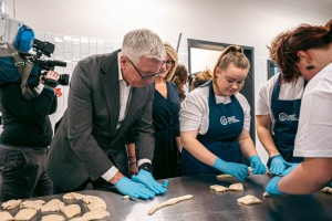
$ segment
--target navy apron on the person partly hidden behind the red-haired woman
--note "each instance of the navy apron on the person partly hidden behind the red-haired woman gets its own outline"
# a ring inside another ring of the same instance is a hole
[[[279,99],[281,75],[272,91],[271,109],[276,119],[273,141],[283,159],[288,162],[301,162],[303,157],[293,157],[294,141],[298,131],[301,99],[281,101]],[[304,86],[307,81],[304,81]],[[270,160],[268,160],[270,167]]]

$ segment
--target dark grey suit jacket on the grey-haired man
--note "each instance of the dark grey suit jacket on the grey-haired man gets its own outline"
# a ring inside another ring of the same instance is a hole
[[[113,165],[128,173],[125,133],[136,134],[137,160],[153,158],[152,104],[154,86],[132,90],[122,126],[120,114],[120,51],[77,63],[69,91],[68,108],[50,145],[45,170],[54,185],[71,190],[95,180]],[[113,160],[110,160],[108,157]]]

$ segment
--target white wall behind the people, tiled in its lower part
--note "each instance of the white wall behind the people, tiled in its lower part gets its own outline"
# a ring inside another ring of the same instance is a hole
[[[128,31],[148,28],[175,48],[183,33],[184,64],[187,39],[255,48],[256,94],[267,80],[266,45],[271,39],[300,23],[325,24],[331,11],[332,0],[15,0],[15,18],[37,31],[40,40],[55,43],[52,59],[68,62],[66,69],[55,69],[60,73],[70,74],[77,60],[90,54],[118,49]],[[68,88],[62,91],[53,124],[66,108]],[[257,149],[267,161],[258,140]]]

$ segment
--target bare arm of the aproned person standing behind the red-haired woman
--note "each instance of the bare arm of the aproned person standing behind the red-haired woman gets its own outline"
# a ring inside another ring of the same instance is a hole
[[[272,135],[270,133],[271,118],[270,115],[256,115],[256,129],[257,136],[267,150],[270,158],[276,155],[280,155],[278,151]]]

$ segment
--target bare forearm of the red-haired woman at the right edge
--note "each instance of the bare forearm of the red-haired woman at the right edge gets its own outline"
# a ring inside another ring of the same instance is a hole
[[[305,158],[292,172],[280,179],[279,191],[310,194],[332,180],[332,158]]]

